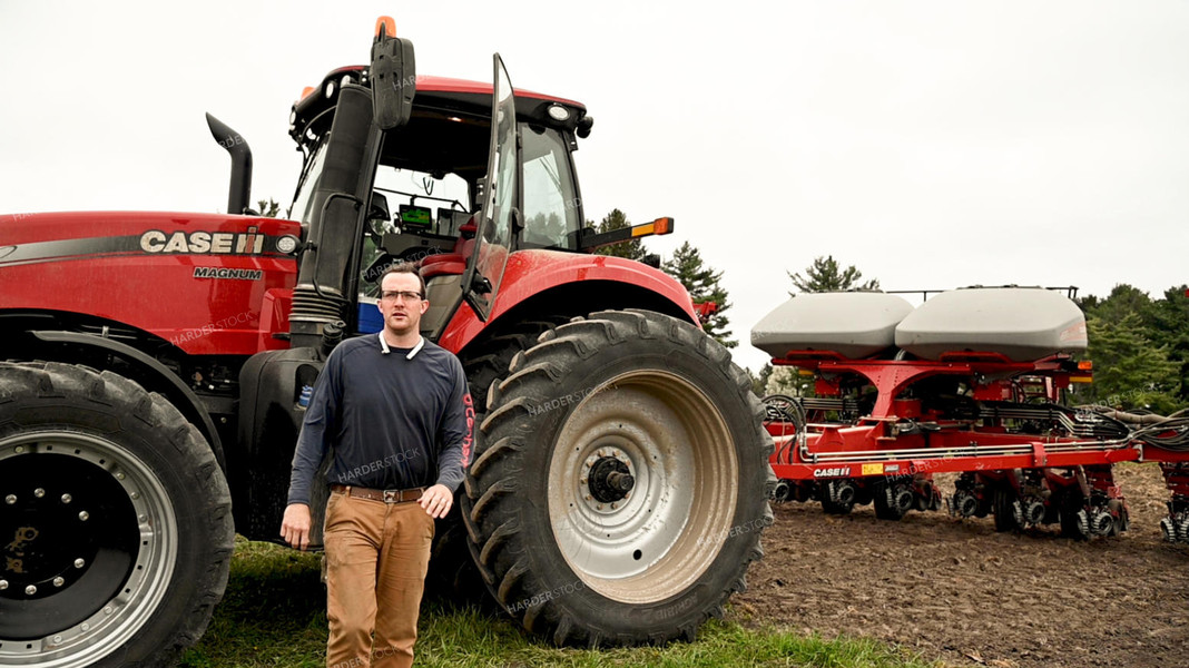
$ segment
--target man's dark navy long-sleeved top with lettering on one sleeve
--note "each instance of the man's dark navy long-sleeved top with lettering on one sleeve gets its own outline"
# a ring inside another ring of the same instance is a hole
[[[407,490],[463,481],[471,456],[474,407],[463,365],[423,341],[385,353],[378,336],[348,339],[314,383],[289,479],[289,503],[309,503],[322,460],[332,484]]]

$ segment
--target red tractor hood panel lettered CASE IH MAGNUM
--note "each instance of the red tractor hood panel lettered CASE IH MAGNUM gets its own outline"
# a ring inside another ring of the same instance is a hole
[[[300,234],[226,214],[0,215],[0,315],[86,314],[191,354],[251,354],[279,345],[262,310],[270,290],[292,288]]]

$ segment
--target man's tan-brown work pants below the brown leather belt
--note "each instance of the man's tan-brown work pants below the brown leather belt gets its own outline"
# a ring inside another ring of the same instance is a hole
[[[325,534],[327,668],[413,666],[433,537],[434,519],[415,502],[331,494]]]

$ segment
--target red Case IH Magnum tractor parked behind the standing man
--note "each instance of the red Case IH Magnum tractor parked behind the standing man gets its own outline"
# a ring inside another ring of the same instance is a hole
[[[585,107],[514,92],[498,56],[490,86],[419,77],[390,21],[370,67],[292,107],[292,220],[246,210],[247,144],[213,118],[227,215],[0,216],[0,663],[196,641],[233,535],[278,540],[308,389],[378,330],[394,261],[419,263],[422,333],[477,411],[439,571],[468,552],[526,628],[584,645],[692,638],[744,586],[772,517],[763,409],[678,282],[592,253],[672,221],[587,228]]]

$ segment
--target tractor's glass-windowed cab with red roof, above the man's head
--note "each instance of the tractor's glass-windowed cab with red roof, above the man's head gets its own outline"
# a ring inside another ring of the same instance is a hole
[[[333,152],[339,94],[366,84],[366,77],[364,68],[334,70],[294,106],[290,134],[306,160],[289,215],[307,226],[326,204],[315,193]],[[357,261],[345,267],[357,295],[348,327],[354,333],[383,327],[377,282],[394,263],[407,261],[426,279],[430,305],[422,333],[436,339],[464,300],[477,313],[490,313],[510,253],[581,250],[584,218],[571,153],[592,119],[578,102],[524,90],[512,95],[498,57],[493,84],[411,75],[394,84],[415,87],[415,95],[408,120],[380,132],[375,147],[366,215],[352,251]],[[367,178],[364,170],[358,178]],[[485,204],[492,213],[487,225],[478,215]]]

